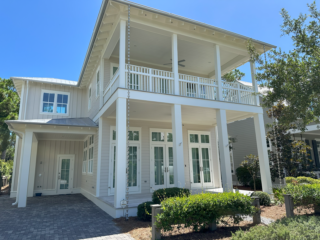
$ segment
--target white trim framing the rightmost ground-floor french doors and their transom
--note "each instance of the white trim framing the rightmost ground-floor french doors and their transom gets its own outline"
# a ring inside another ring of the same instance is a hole
[[[190,134],[199,134],[199,142],[198,143],[192,143],[190,142]],[[209,135],[209,143],[201,143],[201,135]],[[209,156],[210,156],[210,159],[211,159],[211,186],[210,187],[214,187],[215,185],[215,182],[214,182],[214,179],[215,179],[215,176],[214,176],[214,171],[213,171],[213,164],[214,164],[214,161],[213,161],[213,156],[212,156],[212,150],[214,149],[212,144],[212,138],[211,138],[211,132],[210,131],[193,131],[193,130],[189,130],[188,131],[188,155],[189,155],[189,172],[190,172],[190,187],[191,189],[197,189],[198,187],[196,186],[192,186],[194,183],[192,182],[191,183],[191,180],[193,181],[193,172],[192,172],[192,156],[190,155],[190,149],[192,146],[208,146],[209,148]],[[209,185],[209,184],[208,184]],[[204,186],[204,188],[207,188],[206,186]]]

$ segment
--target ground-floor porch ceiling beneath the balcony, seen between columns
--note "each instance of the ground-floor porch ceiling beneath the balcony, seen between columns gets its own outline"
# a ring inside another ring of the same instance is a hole
[[[171,104],[157,102],[130,101],[130,119],[141,121],[171,122]],[[104,117],[116,118],[116,104]],[[214,126],[217,124],[216,111],[209,108],[182,106],[182,123]],[[253,117],[253,113],[227,111],[228,123]]]

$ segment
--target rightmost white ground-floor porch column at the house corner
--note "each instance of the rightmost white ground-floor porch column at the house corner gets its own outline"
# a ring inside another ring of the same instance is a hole
[[[269,166],[269,156],[266,145],[266,130],[264,128],[263,114],[258,113],[254,116],[253,119],[254,129],[256,131],[262,190],[271,194],[272,182]]]

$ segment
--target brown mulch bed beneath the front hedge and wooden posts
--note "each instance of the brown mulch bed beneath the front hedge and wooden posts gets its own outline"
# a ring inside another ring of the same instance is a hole
[[[144,222],[138,220],[136,217],[130,217],[129,221],[125,218],[114,219],[117,226],[121,228],[123,233],[129,233],[134,239],[137,240],[150,240],[151,239],[151,222]],[[233,224],[231,220],[228,221],[228,226],[218,225],[218,229],[215,232],[202,231],[194,232],[192,228],[181,228],[178,230],[176,227],[173,231],[162,232],[162,239],[221,239],[229,240],[231,239],[232,233],[238,231],[240,228],[242,230],[247,230],[252,227],[252,222],[243,221],[239,224]]]

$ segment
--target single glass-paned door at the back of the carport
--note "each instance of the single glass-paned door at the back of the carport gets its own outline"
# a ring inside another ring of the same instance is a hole
[[[74,156],[58,157],[58,194],[71,193],[73,189]]]

